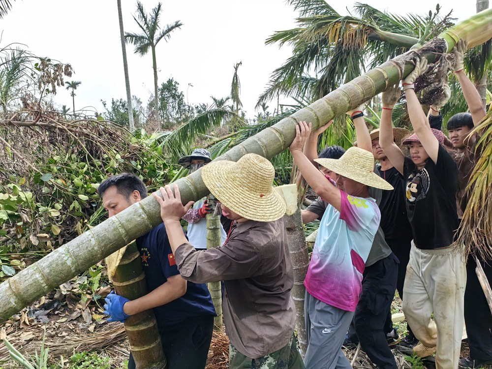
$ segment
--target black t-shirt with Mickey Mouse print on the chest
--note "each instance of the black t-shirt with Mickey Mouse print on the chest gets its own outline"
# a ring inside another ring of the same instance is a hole
[[[403,177],[415,246],[424,250],[450,246],[458,229],[458,168],[451,155],[439,145],[437,163],[429,158],[422,170],[405,157]]]

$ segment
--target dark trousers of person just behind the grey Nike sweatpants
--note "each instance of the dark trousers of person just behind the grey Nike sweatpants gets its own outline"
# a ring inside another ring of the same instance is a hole
[[[387,313],[395,296],[397,274],[398,259],[393,253],[367,267],[355,309],[354,327],[361,348],[379,369],[398,368],[384,332]]]

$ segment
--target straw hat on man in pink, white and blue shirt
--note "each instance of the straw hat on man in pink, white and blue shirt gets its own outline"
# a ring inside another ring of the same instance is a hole
[[[369,151],[351,147],[339,159],[314,159],[340,176],[370,187],[393,189],[393,186],[374,173],[374,156]]]

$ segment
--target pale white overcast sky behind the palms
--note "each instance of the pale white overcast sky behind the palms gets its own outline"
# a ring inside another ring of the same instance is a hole
[[[363,2],[362,0],[360,0]],[[147,12],[157,0],[142,0]],[[366,1],[389,12],[405,15],[434,10],[429,0]],[[454,8],[459,20],[475,13],[475,1],[441,1],[441,14]],[[211,103],[210,96],[224,97],[230,92],[233,65],[243,62],[238,74],[241,99],[247,116],[265,90],[271,72],[291,55],[288,46],[265,45],[274,31],[295,26],[296,14],[284,0],[179,0],[162,1],[161,24],[180,20],[184,26],[171,34],[168,42],[156,48],[159,85],[173,77],[190,104]],[[331,1],[340,14],[347,14],[355,1]],[[453,4],[451,4],[453,3]],[[411,5],[411,7],[409,7]],[[136,1],[122,0],[125,31],[138,32],[132,14]],[[75,74],[66,80],[81,81],[76,91],[75,109],[90,107],[103,111],[100,100],[125,98],[123,60],[116,0],[17,0],[0,20],[3,31],[0,46],[11,42],[27,45],[38,56],[72,64]],[[127,45],[132,95],[146,105],[154,91],[152,56],[133,54]],[[193,87],[188,88],[191,83]],[[56,104],[72,106],[64,89],[55,96]],[[274,106],[271,103],[270,106]],[[273,110],[273,109],[271,109]]]

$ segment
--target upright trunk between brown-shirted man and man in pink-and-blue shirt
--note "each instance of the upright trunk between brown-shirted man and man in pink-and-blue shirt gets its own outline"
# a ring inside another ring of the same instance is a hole
[[[304,297],[306,294],[304,279],[309,266],[309,254],[304,236],[301,208],[299,207],[293,215],[285,215],[284,221],[287,229],[290,259],[294,271],[294,287],[291,290],[291,294],[296,306],[297,340],[304,357],[307,349],[306,322],[304,320]]]

